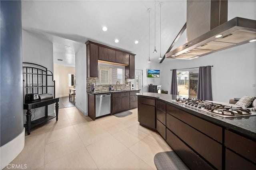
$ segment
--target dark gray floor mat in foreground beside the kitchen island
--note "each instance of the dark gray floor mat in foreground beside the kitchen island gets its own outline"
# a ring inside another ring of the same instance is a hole
[[[174,151],[157,153],[154,163],[158,170],[189,170]]]

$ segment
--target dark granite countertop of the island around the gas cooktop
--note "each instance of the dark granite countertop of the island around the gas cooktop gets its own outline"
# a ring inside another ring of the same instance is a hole
[[[186,111],[191,115],[200,117],[206,121],[212,122],[226,129],[233,130],[244,136],[256,140],[256,116],[244,116],[244,117],[229,117],[224,118],[217,115],[213,115],[209,112],[202,111],[199,109],[193,109],[186,107],[184,104],[175,103],[175,99],[178,98],[177,95],[168,94],[158,94],[158,93],[138,93],[138,96],[153,97],[165,101],[166,103],[175,106],[176,108]],[[173,101],[174,100],[174,101]]]

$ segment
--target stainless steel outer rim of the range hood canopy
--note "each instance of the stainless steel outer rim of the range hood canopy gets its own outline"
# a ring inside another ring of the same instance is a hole
[[[191,51],[192,49],[196,49],[197,47],[200,47],[206,43],[217,40],[218,38],[215,38],[215,36],[217,36],[217,35],[222,34],[223,36],[226,36],[228,34],[232,34],[232,33],[236,32],[238,30],[256,33],[256,20],[250,20],[250,19],[240,18],[240,17],[233,18],[232,20],[229,20],[228,22],[225,22],[224,24],[221,24],[220,26],[213,28],[212,30],[203,34],[202,36],[199,36],[198,38],[195,38],[194,40],[181,45],[180,47],[170,51],[169,53],[166,53],[165,56],[167,58],[178,58],[178,55],[183,54],[183,53],[186,54],[185,53],[186,51]],[[254,39],[254,38],[256,38],[256,36],[252,37],[251,39]],[[208,55],[210,53],[228,49],[230,47],[234,47],[237,45],[249,43],[248,41],[249,40],[246,40],[241,43],[234,43],[234,45],[230,45],[228,47],[223,47],[221,49],[213,50],[208,53],[201,54],[201,55],[196,55],[194,57],[191,57],[190,59]],[[214,42],[216,42],[216,41],[214,41]],[[220,42],[220,43],[222,43],[222,42]],[[175,55],[175,56],[173,56],[173,55]]]

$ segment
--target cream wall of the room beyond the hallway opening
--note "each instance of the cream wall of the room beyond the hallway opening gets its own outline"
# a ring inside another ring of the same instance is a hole
[[[75,67],[68,67],[54,63],[54,80],[56,97],[65,97],[69,95],[69,89],[73,86],[68,86],[68,74],[75,74]]]

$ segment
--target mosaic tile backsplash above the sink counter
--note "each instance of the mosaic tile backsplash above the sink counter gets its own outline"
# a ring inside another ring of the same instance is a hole
[[[86,78],[86,91],[90,92],[90,84],[95,83],[95,91],[108,91],[109,85],[97,85],[96,84],[96,78]],[[111,85],[112,89],[116,89],[116,84]],[[118,84],[117,90],[130,90],[131,89],[131,82],[127,81],[127,79],[124,80],[124,84]]]

